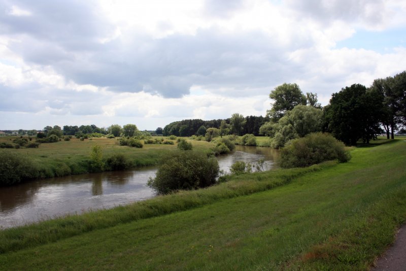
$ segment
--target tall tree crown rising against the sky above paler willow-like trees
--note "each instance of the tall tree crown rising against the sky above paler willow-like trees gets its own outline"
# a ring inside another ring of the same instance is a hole
[[[272,108],[267,111],[267,115],[277,120],[295,106],[306,105],[306,96],[303,95],[297,84],[283,83],[270,92],[269,98],[273,99],[274,103]]]

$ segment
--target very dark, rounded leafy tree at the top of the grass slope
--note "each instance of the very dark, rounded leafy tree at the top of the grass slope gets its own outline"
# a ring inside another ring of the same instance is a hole
[[[356,145],[359,139],[369,143],[380,132],[382,100],[366,87],[353,84],[333,93],[325,109],[327,131],[347,145]]]

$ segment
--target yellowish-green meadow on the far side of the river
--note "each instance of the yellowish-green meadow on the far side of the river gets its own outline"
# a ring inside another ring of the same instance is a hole
[[[17,137],[2,137],[0,143],[11,143]],[[171,140],[167,140],[171,141]],[[0,152],[13,153],[29,161],[24,170],[27,178],[51,178],[66,175],[83,174],[91,172],[90,152],[95,145],[101,147],[103,158],[107,159],[115,154],[123,155],[128,161],[128,167],[140,167],[157,164],[160,156],[177,148],[174,145],[145,144],[143,148],[119,146],[117,139],[92,138],[81,141],[72,138],[70,141],[44,143],[39,148],[1,149]],[[208,150],[213,144],[208,142],[193,142],[195,149]],[[1,182],[0,182],[1,185]]]

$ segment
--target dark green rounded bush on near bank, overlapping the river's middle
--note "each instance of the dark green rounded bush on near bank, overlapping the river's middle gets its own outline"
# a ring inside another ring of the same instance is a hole
[[[160,194],[180,189],[197,189],[216,183],[219,164],[216,158],[208,158],[196,151],[176,151],[161,158],[155,179],[148,186]]]

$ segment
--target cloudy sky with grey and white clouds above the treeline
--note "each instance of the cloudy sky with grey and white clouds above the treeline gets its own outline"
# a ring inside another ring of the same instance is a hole
[[[0,129],[265,115],[406,70],[404,0],[0,0]]]

